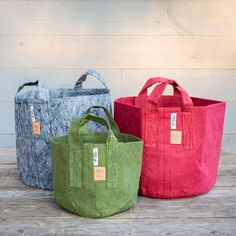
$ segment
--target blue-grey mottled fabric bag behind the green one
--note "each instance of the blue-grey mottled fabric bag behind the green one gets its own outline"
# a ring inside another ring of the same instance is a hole
[[[83,88],[88,75],[97,78],[105,88]],[[20,93],[25,86],[37,86],[37,90]],[[52,190],[49,140],[66,134],[71,122],[94,105],[104,106],[111,112],[110,90],[102,76],[93,70],[83,74],[74,89],[48,89],[41,81],[19,87],[15,96],[16,156],[23,183]],[[95,114],[104,116],[101,110]],[[93,122],[90,129],[101,131],[102,128]]]

